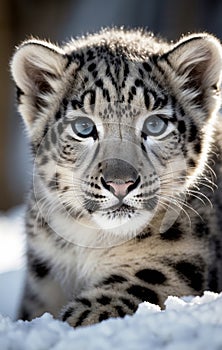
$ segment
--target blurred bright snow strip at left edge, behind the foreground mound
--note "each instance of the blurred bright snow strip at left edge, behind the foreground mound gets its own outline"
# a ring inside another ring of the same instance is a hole
[[[24,208],[7,214],[0,213],[0,313],[14,319],[25,275]]]

